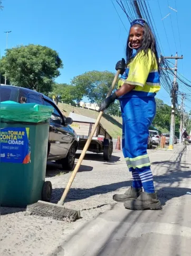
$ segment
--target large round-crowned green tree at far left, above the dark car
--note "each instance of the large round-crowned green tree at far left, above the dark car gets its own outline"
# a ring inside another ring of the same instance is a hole
[[[51,92],[62,67],[58,52],[34,44],[8,49],[1,60],[1,74],[6,72],[11,84],[45,94]]]

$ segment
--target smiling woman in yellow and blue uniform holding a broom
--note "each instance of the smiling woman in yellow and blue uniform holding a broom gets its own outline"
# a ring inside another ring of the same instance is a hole
[[[126,47],[126,61],[118,61],[121,78],[118,89],[103,100],[103,111],[118,99],[122,114],[122,150],[132,186],[122,195],[114,195],[128,209],[160,209],[147,154],[149,126],[156,114],[156,93],[160,90],[159,61],[155,37],[147,22],[131,22]],[[142,190],[143,188],[143,190]]]

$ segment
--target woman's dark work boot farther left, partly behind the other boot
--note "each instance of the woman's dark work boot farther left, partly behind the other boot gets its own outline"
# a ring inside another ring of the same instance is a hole
[[[113,196],[113,200],[116,202],[126,202],[129,199],[136,199],[142,193],[142,188],[130,187],[125,194],[116,194]]]

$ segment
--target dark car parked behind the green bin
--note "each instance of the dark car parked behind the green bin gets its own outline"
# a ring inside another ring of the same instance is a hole
[[[50,118],[47,161],[57,161],[63,169],[72,170],[75,152],[78,149],[77,134],[72,129],[72,118],[65,117],[49,97],[33,90],[10,85],[0,86],[1,102],[12,100],[17,103],[36,103],[51,106],[54,112]]]

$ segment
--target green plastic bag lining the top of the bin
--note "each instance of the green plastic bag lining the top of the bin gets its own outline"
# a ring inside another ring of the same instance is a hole
[[[39,123],[49,119],[53,112],[53,107],[39,105],[36,103],[20,104],[16,102],[1,102],[1,121],[17,121]]]

